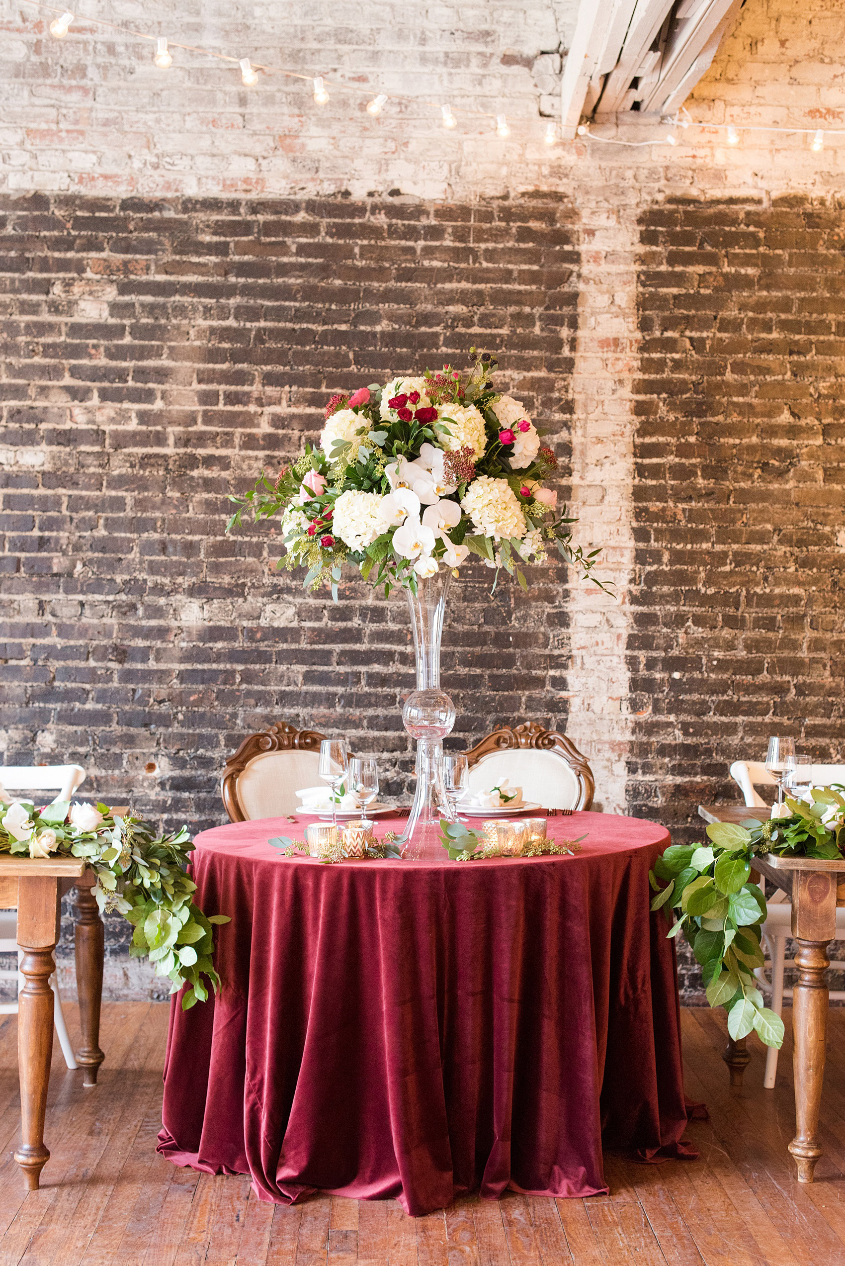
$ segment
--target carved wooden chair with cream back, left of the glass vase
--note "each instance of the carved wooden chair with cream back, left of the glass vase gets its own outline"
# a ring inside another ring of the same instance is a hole
[[[301,809],[296,793],[319,785],[324,737],[282,720],[244,738],[220,780],[229,822],[285,818]]]

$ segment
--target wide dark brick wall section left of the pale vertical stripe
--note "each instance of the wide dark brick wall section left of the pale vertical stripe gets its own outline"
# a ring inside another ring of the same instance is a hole
[[[8,758],[78,760],[100,794],[199,828],[239,736],[285,718],[387,753],[400,793],[404,599],[352,576],[338,606],[305,595],[266,527],[224,536],[226,494],[301,452],[338,387],[476,343],[565,465],[567,203],[35,196],[3,215]],[[565,724],[565,577],[535,575],[527,599],[490,601],[482,567],[453,590],[462,739]]]

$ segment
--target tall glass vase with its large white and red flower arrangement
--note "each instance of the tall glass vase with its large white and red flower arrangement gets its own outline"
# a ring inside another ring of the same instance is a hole
[[[522,403],[493,385],[496,367],[484,352],[466,376],[444,365],[334,395],[318,444],[276,479],[262,471],[254,487],[230,498],[229,529],[247,510],[257,520],[281,517],[278,566],[304,567],[306,589],[324,586],[336,600],[349,565],[386,598],[395,586],[406,591],[417,689],[402,720],[417,741],[417,781],[404,838],[416,833],[417,856],[424,837],[429,852],[440,851],[440,818],[453,819],[443,738],[455,713],[440,690],[450,577],[474,555],[496,579],[503,568],[527,590],[524,568],[554,549],[603,587],[592,573],[600,551],[573,543],[576,520],[545,485],[558,460]]]

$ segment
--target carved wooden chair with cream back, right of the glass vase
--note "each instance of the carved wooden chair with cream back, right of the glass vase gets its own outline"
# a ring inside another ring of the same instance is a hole
[[[535,720],[495,729],[467,756],[469,794],[490,791],[509,779],[544,809],[588,809],[593,803],[596,784],[586,758],[565,734]]]

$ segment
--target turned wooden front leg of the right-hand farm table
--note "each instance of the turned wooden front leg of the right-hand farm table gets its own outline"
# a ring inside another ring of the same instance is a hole
[[[798,1166],[798,1181],[812,1182],[818,1144],[818,1109],[825,1079],[827,1036],[827,941],[798,941],[798,981],[792,995],[792,1056],[796,1080],[797,1134],[789,1151]]]

